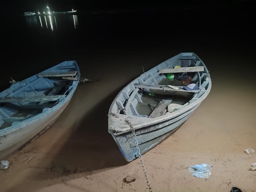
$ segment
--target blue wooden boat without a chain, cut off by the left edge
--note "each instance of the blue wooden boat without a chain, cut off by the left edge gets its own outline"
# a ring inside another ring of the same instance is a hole
[[[8,158],[45,131],[77,88],[76,61],[64,61],[0,93],[0,159]]]

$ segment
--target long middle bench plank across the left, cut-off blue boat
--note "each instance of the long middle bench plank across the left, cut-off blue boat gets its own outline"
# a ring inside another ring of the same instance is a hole
[[[40,96],[40,97],[1,97],[0,103],[58,101],[63,97],[65,97],[65,95]]]

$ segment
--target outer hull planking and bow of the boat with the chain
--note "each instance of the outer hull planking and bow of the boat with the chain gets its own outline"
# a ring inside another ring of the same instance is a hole
[[[182,126],[183,123],[187,121],[198,106],[199,104],[191,110],[185,111],[183,114],[170,120],[145,126],[141,129],[136,129],[135,135],[140,153],[146,153],[172,135],[179,127]],[[118,145],[126,161],[130,162],[139,157],[139,151],[132,131],[120,135],[110,131],[110,134]]]

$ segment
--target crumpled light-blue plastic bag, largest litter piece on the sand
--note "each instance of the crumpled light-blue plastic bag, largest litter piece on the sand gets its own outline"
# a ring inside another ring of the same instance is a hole
[[[189,172],[199,178],[206,178],[208,179],[209,176],[211,175],[211,170],[212,165],[208,165],[206,163],[201,164],[201,165],[194,165],[189,167]]]

